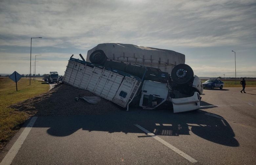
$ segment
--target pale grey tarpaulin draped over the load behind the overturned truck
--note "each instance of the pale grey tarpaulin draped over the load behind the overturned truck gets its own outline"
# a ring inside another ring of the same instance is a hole
[[[109,59],[118,61],[137,61],[159,64],[184,64],[185,55],[166,49],[158,49],[133,44],[101,43],[88,50],[86,61],[95,50],[103,50]],[[144,61],[143,61],[144,56]]]

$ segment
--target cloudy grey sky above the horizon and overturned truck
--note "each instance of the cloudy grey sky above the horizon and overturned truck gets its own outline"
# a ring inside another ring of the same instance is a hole
[[[64,74],[99,43],[185,54],[198,76],[256,77],[256,0],[1,0],[0,73]]]

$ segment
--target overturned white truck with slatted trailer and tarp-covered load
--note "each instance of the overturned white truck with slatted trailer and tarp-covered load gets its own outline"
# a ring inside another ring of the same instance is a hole
[[[72,55],[73,57],[73,55]],[[70,58],[63,82],[121,107],[173,107],[174,113],[200,107],[203,85],[184,64],[185,55],[132,44],[104,43],[87,60]]]

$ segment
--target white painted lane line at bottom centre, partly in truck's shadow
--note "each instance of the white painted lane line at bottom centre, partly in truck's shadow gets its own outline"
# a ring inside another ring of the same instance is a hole
[[[162,144],[164,144],[165,146],[167,146],[168,148],[170,148],[171,150],[173,150],[174,152],[178,153],[179,155],[181,155],[182,157],[184,157],[185,159],[187,159],[188,161],[192,162],[192,163],[196,163],[197,160],[195,160],[193,157],[190,157],[189,155],[185,154],[184,152],[182,152],[181,150],[179,150],[178,148],[174,147],[173,145],[171,145],[170,143],[162,140],[160,137],[156,136],[155,134],[149,132],[148,130],[146,130],[145,128],[143,128],[142,126],[138,125],[138,124],[134,124],[135,126],[137,126],[139,129],[141,129],[142,131],[144,131],[145,133],[147,133],[147,135],[152,136],[154,139],[160,141]]]

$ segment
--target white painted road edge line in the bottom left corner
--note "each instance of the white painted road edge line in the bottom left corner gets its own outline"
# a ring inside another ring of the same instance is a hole
[[[18,153],[21,145],[27,138],[31,128],[33,127],[37,117],[32,117],[30,120],[29,124],[26,126],[26,128],[23,130],[19,138],[16,140],[16,142],[12,145],[11,149],[9,152],[6,154],[6,156],[3,158],[2,162],[0,165],[10,165],[16,154]]]

